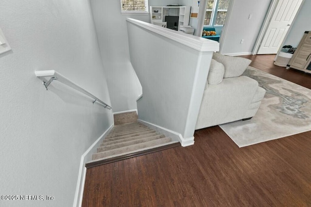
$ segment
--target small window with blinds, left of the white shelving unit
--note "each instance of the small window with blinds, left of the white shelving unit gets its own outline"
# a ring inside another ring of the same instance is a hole
[[[148,12],[148,0],[121,0],[122,12]]]

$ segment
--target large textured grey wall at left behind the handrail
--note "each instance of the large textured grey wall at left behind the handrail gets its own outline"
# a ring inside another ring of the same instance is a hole
[[[12,51],[0,55],[0,195],[53,201],[0,206],[69,207],[82,154],[112,124],[112,111],[35,70],[55,69],[106,103],[109,93],[88,0],[2,0],[0,27]]]

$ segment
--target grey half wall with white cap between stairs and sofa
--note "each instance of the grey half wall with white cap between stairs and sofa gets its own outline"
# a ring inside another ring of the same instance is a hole
[[[138,118],[190,139],[219,44],[135,19],[127,26],[131,63],[143,90]]]

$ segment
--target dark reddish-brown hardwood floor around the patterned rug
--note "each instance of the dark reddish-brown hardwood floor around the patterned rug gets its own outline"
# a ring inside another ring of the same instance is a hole
[[[311,88],[311,75],[243,56]],[[83,207],[311,206],[311,131],[239,148],[218,126],[195,143],[87,169]]]

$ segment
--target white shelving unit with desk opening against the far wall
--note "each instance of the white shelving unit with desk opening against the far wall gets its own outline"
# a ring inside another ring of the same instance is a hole
[[[190,6],[150,6],[150,23],[164,22],[165,16],[178,16],[178,27],[188,26],[190,20]]]

